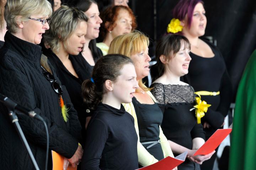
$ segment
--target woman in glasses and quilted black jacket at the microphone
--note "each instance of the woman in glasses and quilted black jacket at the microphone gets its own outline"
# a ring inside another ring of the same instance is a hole
[[[49,29],[52,6],[47,0],[8,0],[5,20],[8,31],[0,50],[0,93],[40,115],[49,131],[49,151],[63,155],[72,166],[79,164],[81,126],[65,87],[61,86],[38,46]],[[0,105],[1,169],[33,169],[7,109]],[[40,169],[46,167],[46,132],[41,121],[17,114]],[[47,169],[52,169],[49,153]]]

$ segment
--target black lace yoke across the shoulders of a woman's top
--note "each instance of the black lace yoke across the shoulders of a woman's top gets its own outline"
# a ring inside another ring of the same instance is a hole
[[[194,103],[194,89],[190,85],[154,83],[151,87],[159,104]]]

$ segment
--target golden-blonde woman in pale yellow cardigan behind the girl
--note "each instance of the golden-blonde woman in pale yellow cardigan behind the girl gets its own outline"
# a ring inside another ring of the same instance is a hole
[[[148,45],[148,37],[139,31],[133,31],[114,38],[108,51],[109,54],[126,55],[134,62],[139,87],[132,102],[124,104],[124,108],[134,117],[138,134],[138,159],[142,166],[151,165],[167,156],[174,157],[160,127],[161,109],[150,89],[142,83],[142,78],[149,74],[151,58],[148,55]]]

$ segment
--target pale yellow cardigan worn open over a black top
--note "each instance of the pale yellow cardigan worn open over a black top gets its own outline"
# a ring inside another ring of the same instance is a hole
[[[154,100],[154,102],[156,102],[156,99],[154,98],[154,96],[151,94],[150,91],[147,91],[146,93],[148,93],[148,95]],[[137,121],[137,116],[136,116],[136,113],[135,113],[135,109],[134,109],[134,106],[131,103],[123,103],[123,106],[125,108],[125,110],[131,114],[134,118],[134,126],[135,126],[135,130],[137,132],[137,135],[138,135],[138,145],[137,145],[137,148],[138,148],[138,158],[139,158],[139,164],[142,165],[142,166],[148,166],[148,165],[151,165],[151,164],[154,164],[156,162],[158,162],[157,159],[154,158],[153,155],[151,155],[143,146],[142,144],[140,143],[139,141],[139,127],[138,127],[138,121]],[[170,147],[170,144],[169,142],[167,141],[164,133],[162,132],[162,129],[161,127],[159,126],[159,130],[160,130],[160,134],[159,134],[159,138],[161,140],[160,144],[161,144],[161,147],[162,147],[162,151],[164,153],[164,157],[174,157],[173,153],[172,153],[172,150],[171,150],[171,147]]]

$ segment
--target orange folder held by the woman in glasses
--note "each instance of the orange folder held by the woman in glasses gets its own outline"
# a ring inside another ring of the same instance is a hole
[[[53,170],[63,170],[64,157],[52,150]],[[76,170],[77,166],[73,168],[70,164],[67,170]]]

